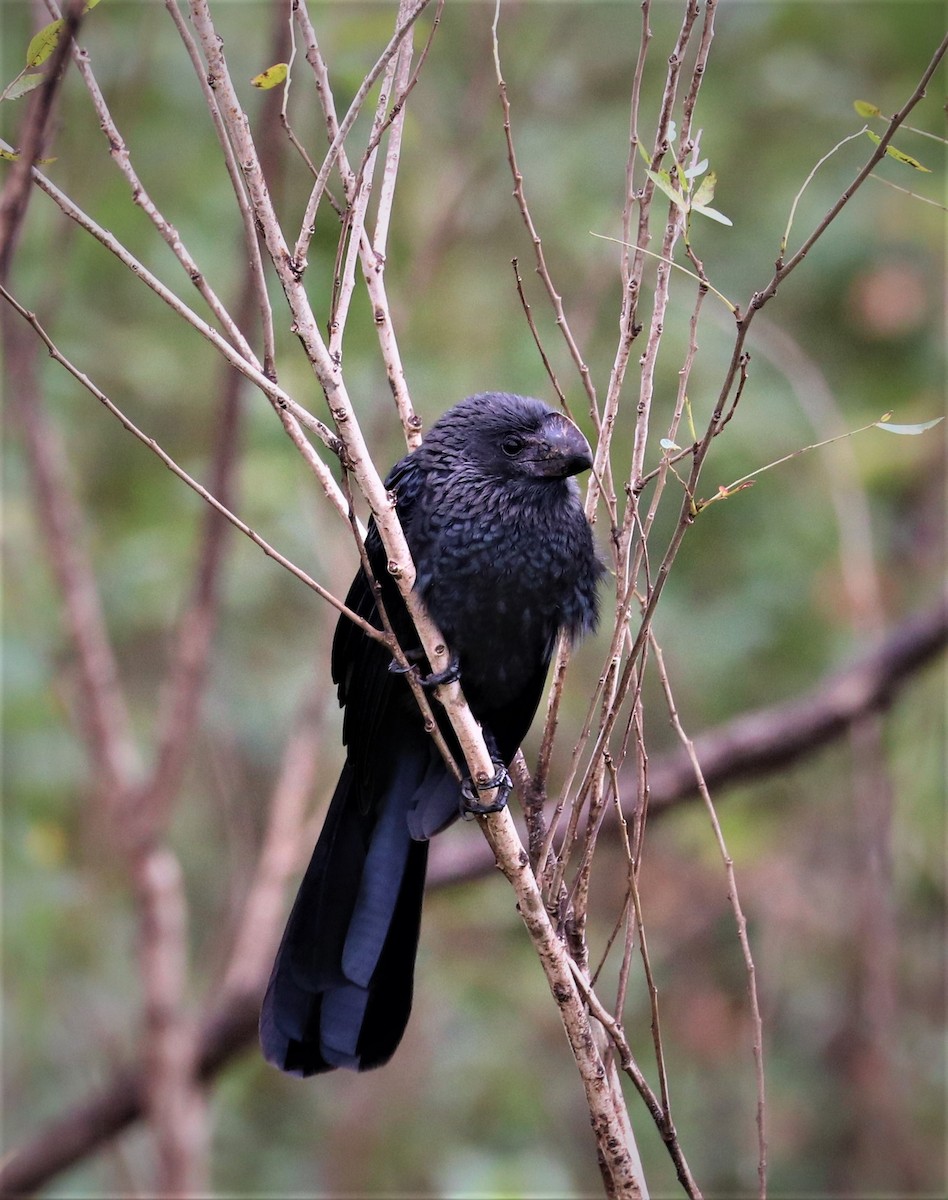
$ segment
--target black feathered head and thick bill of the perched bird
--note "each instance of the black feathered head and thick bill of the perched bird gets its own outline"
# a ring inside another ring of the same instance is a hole
[[[529,396],[488,391],[462,400],[422,444],[431,467],[504,480],[564,480],[593,466],[589,443],[563,413]]]

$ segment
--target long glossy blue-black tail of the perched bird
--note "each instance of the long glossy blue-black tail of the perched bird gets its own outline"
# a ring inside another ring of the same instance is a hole
[[[391,1057],[412,1010],[427,841],[409,833],[418,779],[371,820],[347,763],[277,952],[260,1013],[266,1060],[293,1075]]]

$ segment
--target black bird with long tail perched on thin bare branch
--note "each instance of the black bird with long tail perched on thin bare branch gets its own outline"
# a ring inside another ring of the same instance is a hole
[[[499,768],[493,808],[509,791],[504,768],[534,718],[557,637],[596,624],[602,564],[571,478],[590,466],[586,438],[560,413],[484,392],[445,413],[386,480],[415,588]],[[366,551],[398,642],[424,672],[373,523]],[[382,628],[361,570],[346,602]],[[294,1075],[367,1070],[391,1057],[412,1008],[427,839],[463,809],[488,811],[470,780],[462,787],[445,767],[385,647],[344,616],[331,665],[346,764],[260,1014],[264,1055]]]

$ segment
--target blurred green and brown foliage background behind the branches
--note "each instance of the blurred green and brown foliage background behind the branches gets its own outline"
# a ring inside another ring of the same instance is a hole
[[[274,5],[215,8],[245,102],[270,64]],[[344,108],[390,35],[392,5],[311,7]],[[499,388],[552,400],[514,288],[518,256],[547,352],[574,409],[582,391],[534,281],[511,198],[493,79],[493,6],[449,2],[408,107],[386,280],[409,386],[427,424],[454,401]],[[943,35],[928,0],[805,4],[721,0],[696,126],[732,228],[694,236],[714,286],[745,304],[770,277],[794,194],[817,158],[862,124],[853,101],[894,112]],[[22,64],[36,14],[0,2],[2,80]],[[678,4],[653,5],[642,132],[652,137]],[[426,26],[427,28],[427,26]],[[614,354],[617,236],[628,96],[640,8],[626,2],[505,4],[500,23],[514,131],[551,274],[601,394]],[[223,296],[242,271],[239,227],[216,142],[163,6],[108,0],[82,36],[156,203]],[[944,72],[910,124],[936,134]],[[295,103],[295,101],[294,101]],[[314,142],[311,98],[293,109]],[[0,106],[7,140],[19,110]],[[931,168],[878,175],[943,202],[943,145],[896,144]],[[791,246],[827,211],[869,151],[847,144],[799,203]],[[167,248],[130,203],[78,82],[67,80],[49,175],[168,282]],[[277,192],[290,226],[307,193],[295,166]],[[655,230],[660,232],[660,217]],[[704,494],[782,455],[892,412],[943,412],[944,212],[870,180],[755,326],[751,374],[718,439]],[[336,233],[320,227],[314,293]],[[215,436],[212,352],[89,238],[35,196],[11,278],[65,353],[192,474]],[[692,292],[676,280],[656,404],[671,410]],[[275,290],[276,299],[276,290]],[[648,298],[646,298],[648,302]],[[280,377],[322,413],[278,314]],[[710,301],[691,380],[707,419],[731,346]],[[402,452],[365,295],[346,373],[377,461]],[[143,745],[154,734],[169,631],[187,596],[200,502],[73,380],[42,365],[50,413],[89,517],[92,560]],[[630,382],[635,373],[630,376]],[[5,389],[12,394],[10,374]],[[626,401],[634,404],[635,386]],[[582,416],[581,416],[582,420]],[[655,437],[661,436],[661,418]],[[355,553],[269,406],[246,397],[239,497],[247,523],[337,593]],[[650,450],[654,463],[658,445]],[[16,421],[4,442],[4,1142],[35,1135],[131,1058],[139,984],[128,883],[89,820],[88,764],[74,725],[74,662],[44,557]],[[673,510],[676,504],[670,505]],[[818,684],[887,630],[930,606],[943,571],[940,431],[870,430],[766,473],[690,532],[656,631],[691,733]],[[667,521],[673,520],[670,511]],[[668,526],[670,528],[670,526]],[[863,536],[868,530],[869,540]],[[263,806],[301,695],[326,672],[331,612],[236,534],[228,538],[211,678],[172,827],[191,905],[196,1009],[214,996]],[[566,722],[578,721],[602,647],[583,648]],[[326,679],[326,688],[329,682]],[[652,752],[672,743],[655,689]],[[332,709],[330,704],[330,709]],[[862,740],[860,740],[862,739]],[[563,748],[568,748],[564,737]],[[314,810],[340,764],[328,718]],[[715,794],[750,920],[766,1021],[775,1195],[942,1195],[944,1163],[944,679],[929,670],[872,728],[792,769]],[[452,838],[478,838],[472,827]],[[601,944],[624,865],[598,868]],[[649,828],[642,896],[662,997],[673,1112],[706,1194],[755,1188],[746,982],[707,817],[685,804]],[[581,1088],[558,1018],[499,876],[439,889],[426,908],[416,1006],[384,1070],[308,1084],[253,1048],[211,1090],[212,1186],[221,1194],[595,1194]],[[626,1027],[646,1073],[641,976]],[[644,1109],[654,1194],[676,1193]],[[146,1192],[140,1130],[59,1177],[46,1194]]]

